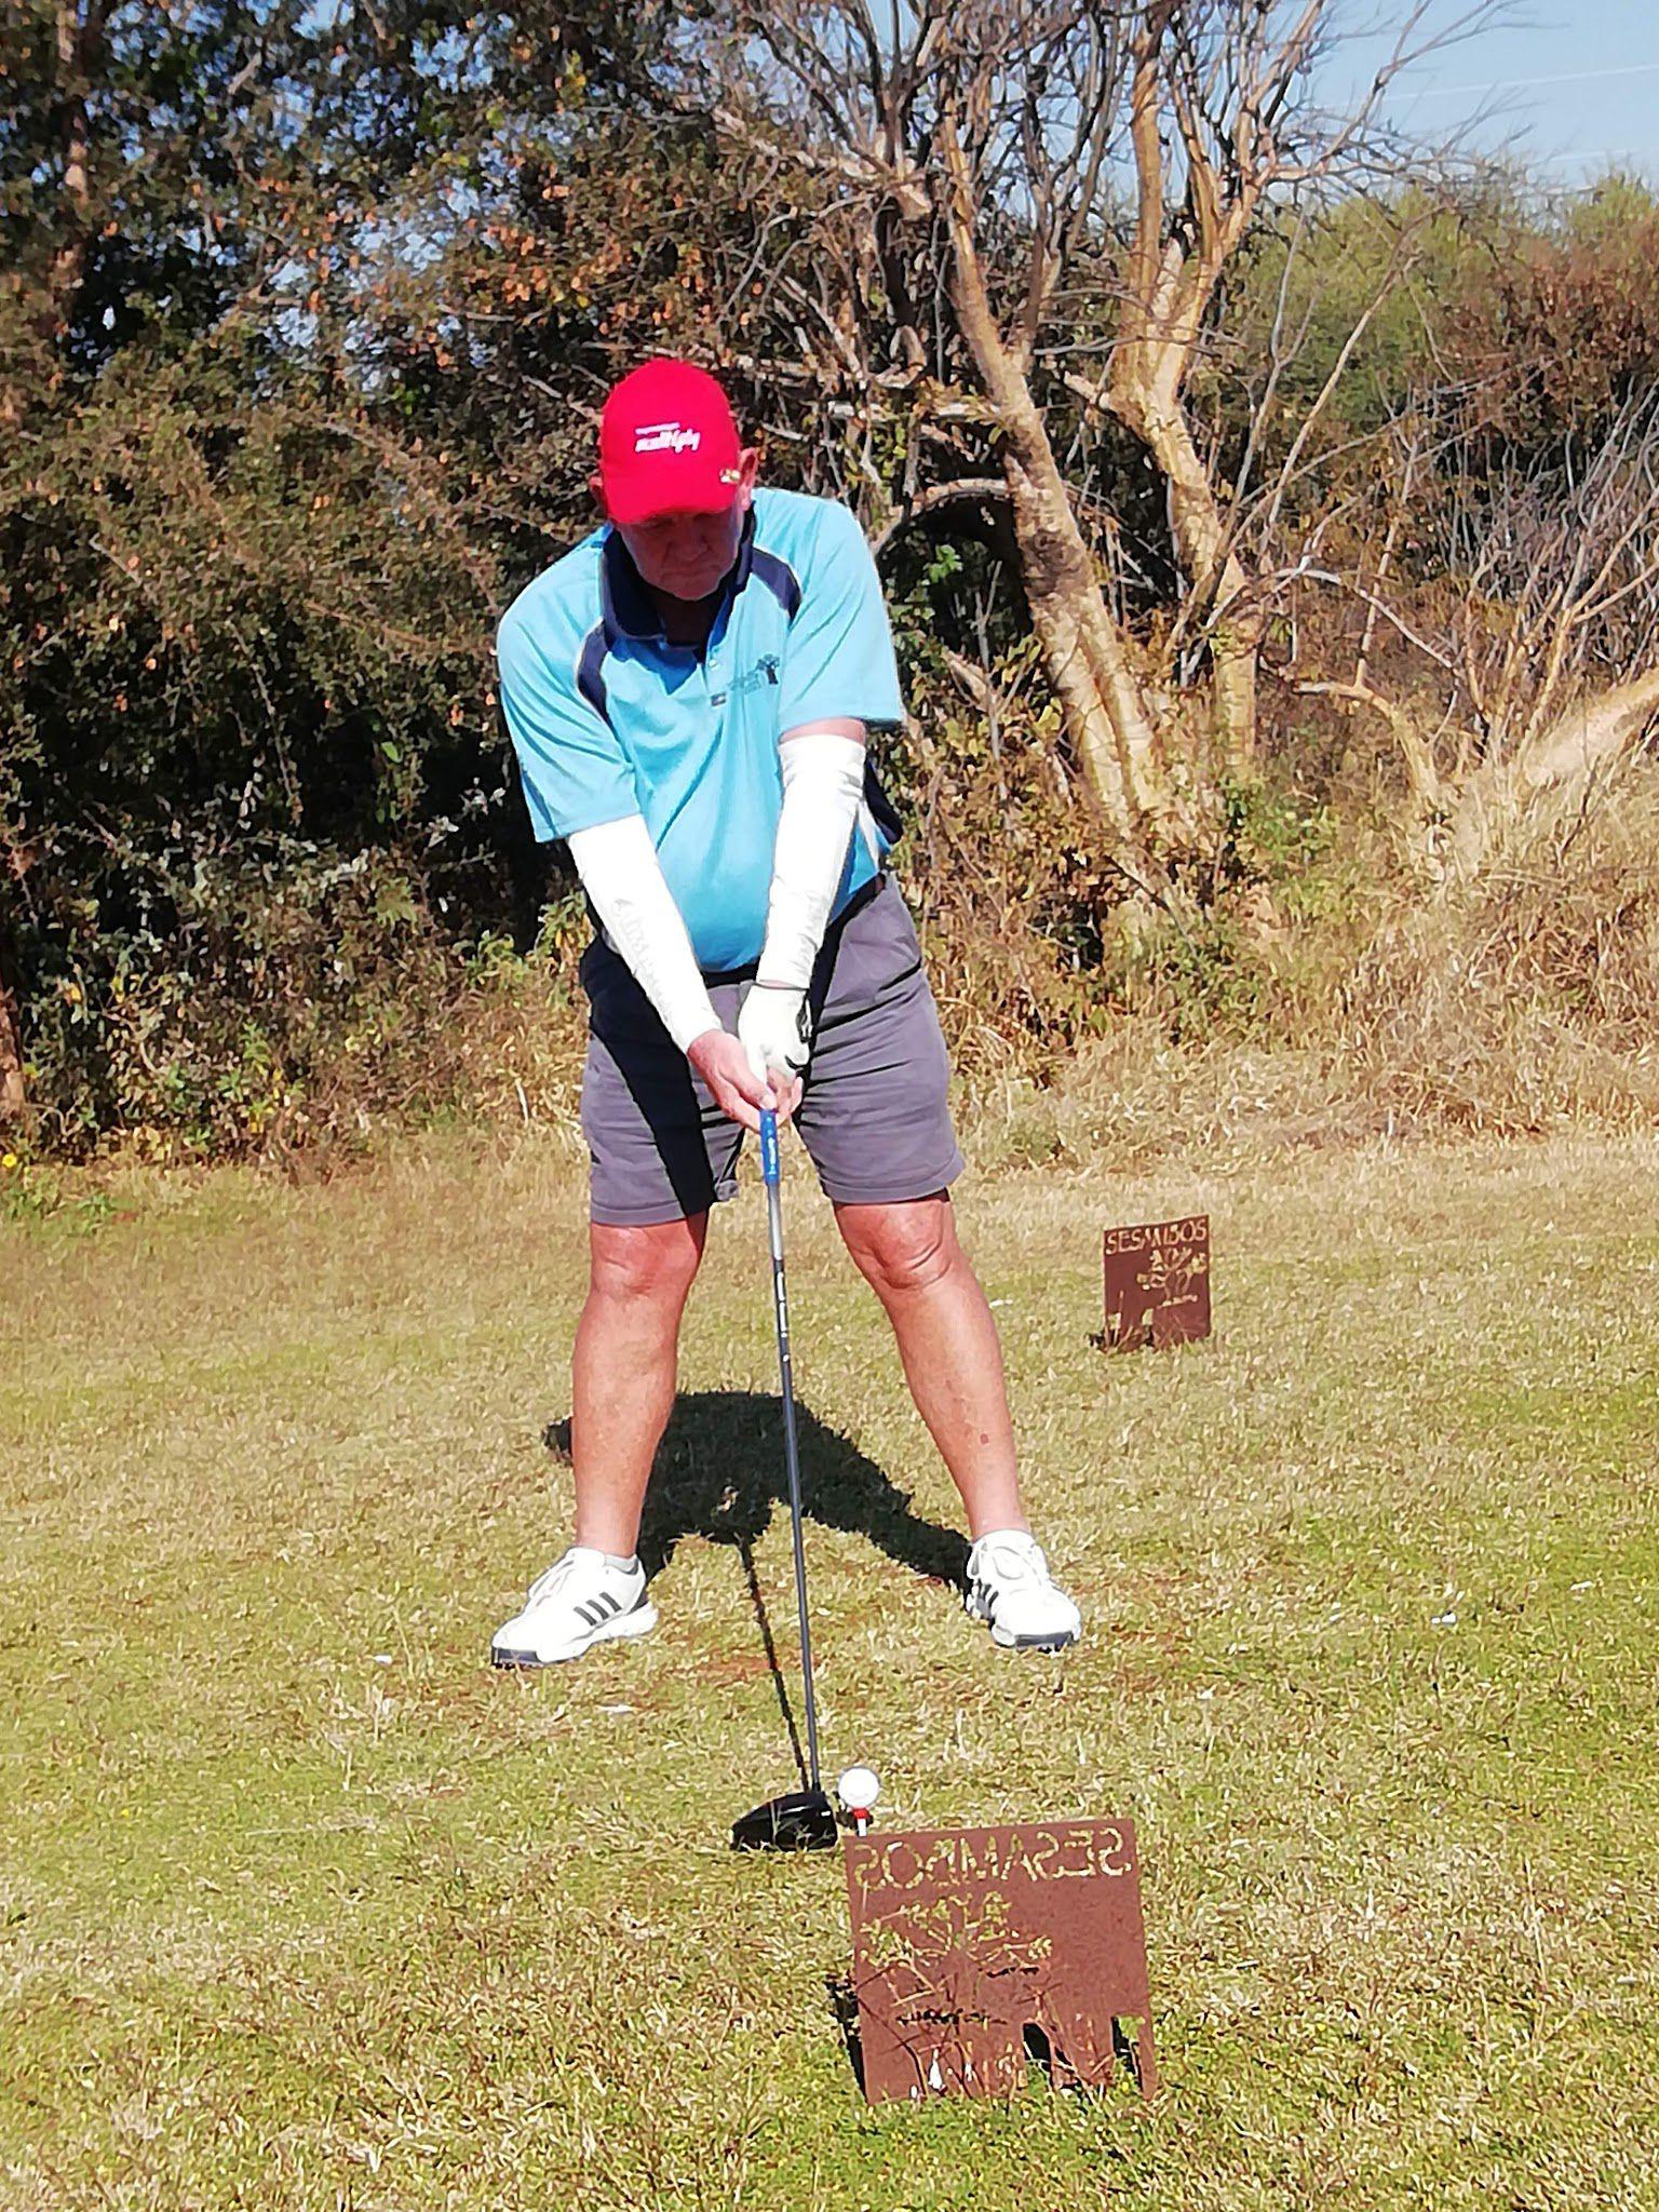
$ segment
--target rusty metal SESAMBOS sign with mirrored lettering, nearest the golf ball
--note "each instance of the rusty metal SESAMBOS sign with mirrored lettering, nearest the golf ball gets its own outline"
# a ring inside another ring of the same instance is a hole
[[[1139,2022],[1135,2077],[1157,2088],[1130,1820],[863,1836],[847,1898],[872,2104],[1000,2097],[1033,2055],[1057,2088],[1104,2088],[1119,2020]]]

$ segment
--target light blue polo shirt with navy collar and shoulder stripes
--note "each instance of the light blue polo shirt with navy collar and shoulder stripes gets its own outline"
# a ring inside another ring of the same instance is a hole
[[[604,524],[513,599],[495,650],[535,836],[644,814],[706,973],[761,956],[781,734],[905,717],[863,531],[845,507],[799,491],[754,493],[708,646],[668,644]],[[836,911],[885,845],[867,801]]]

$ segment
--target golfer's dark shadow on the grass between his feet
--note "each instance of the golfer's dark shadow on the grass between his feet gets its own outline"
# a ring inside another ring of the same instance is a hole
[[[807,1407],[796,1402],[794,1416],[801,1444],[801,1504],[807,1520],[816,1520],[823,1528],[867,1535],[898,1566],[960,1588],[967,1579],[967,1537],[911,1513],[905,1491],[894,1489],[874,1460],[836,1429],[825,1427]],[[542,1442],[555,1458],[568,1462],[571,1422],[549,1422]],[[790,1511],[779,1400],[741,1389],[681,1394],[650,1469],[639,1524],[639,1562],[648,1575],[661,1573],[688,1535],[737,1551],[776,1683],[783,1725],[805,1785],[801,1734],[754,1573],[754,1546],[770,1526],[774,1509],[785,1515]]]

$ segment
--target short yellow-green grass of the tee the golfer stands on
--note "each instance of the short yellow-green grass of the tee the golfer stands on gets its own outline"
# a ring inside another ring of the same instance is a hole
[[[1164,2097],[867,2110],[790,1783],[759,1192],[653,1506],[664,1626],[491,1674],[557,1548],[582,1190],[434,1146],[0,1228],[0,2203],[1659,2205],[1659,1148],[967,1183],[1040,1528],[1011,1659],[794,1172],[832,1756],[891,1823],[1130,1812]],[[1097,1230],[1208,1203],[1212,1345]],[[752,1568],[752,1575],[750,1575]]]

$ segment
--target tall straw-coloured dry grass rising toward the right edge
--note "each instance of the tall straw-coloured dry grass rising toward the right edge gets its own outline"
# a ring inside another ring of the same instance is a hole
[[[1296,953],[1263,969],[1245,1029],[1172,1042],[1152,1002],[1051,1062],[1053,1084],[982,1055],[975,1166],[1659,1126],[1659,761],[1540,803],[1478,885],[1425,902],[1402,883],[1345,969],[1323,922]]]

